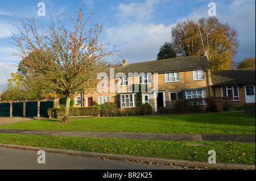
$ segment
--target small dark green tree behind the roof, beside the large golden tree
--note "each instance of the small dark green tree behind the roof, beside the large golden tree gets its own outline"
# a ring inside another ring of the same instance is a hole
[[[176,53],[170,42],[165,42],[159,49],[157,60],[176,58]]]

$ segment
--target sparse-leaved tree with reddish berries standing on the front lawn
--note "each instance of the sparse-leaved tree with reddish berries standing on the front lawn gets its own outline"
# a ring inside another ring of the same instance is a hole
[[[93,14],[84,18],[81,8],[77,14],[76,19],[69,15],[51,16],[49,26],[19,18],[22,27],[16,26],[18,35],[13,33],[17,56],[23,60],[20,66],[32,81],[43,80],[45,86],[67,97],[63,122],[69,121],[72,97],[97,87],[97,65],[114,52],[106,50],[108,44],[99,43],[102,24],[88,24]]]

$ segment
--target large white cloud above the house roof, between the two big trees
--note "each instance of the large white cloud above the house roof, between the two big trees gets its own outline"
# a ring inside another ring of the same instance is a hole
[[[171,27],[163,24],[128,24],[123,27],[113,27],[106,31],[110,42],[126,42],[125,57],[128,63],[156,60],[160,46],[171,40]],[[122,44],[121,44],[122,46]],[[120,48],[122,50],[122,47]],[[117,59],[122,60],[123,51]]]

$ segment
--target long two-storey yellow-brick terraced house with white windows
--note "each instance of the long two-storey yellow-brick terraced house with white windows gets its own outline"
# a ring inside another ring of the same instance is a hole
[[[212,95],[210,65],[208,56],[189,56],[127,64],[106,69],[101,74],[98,91],[93,94],[79,94],[76,106],[92,106],[115,102],[120,108],[136,107],[137,92],[133,89],[141,85],[142,102],[148,102],[153,111],[165,107],[166,101],[206,98]],[[179,95],[179,96],[178,96]]]

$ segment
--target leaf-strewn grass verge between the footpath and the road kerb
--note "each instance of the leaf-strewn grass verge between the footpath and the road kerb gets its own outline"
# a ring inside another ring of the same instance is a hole
[[[255,143],[144,141],[122,138],[36,136],[3,133],[0,133],[0,143],[204,162],[208,161],[208,151],[215,150],[217,162],[255,165]],[[190,146],[188,145],[189,143],[203,143],[206,146]]]

